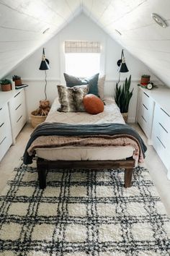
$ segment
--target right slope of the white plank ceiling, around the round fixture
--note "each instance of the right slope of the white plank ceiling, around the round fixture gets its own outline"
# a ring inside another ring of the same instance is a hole
[[[169,0],[83,0],[83,5],[86,15],[170,86]],[[168,27],[159,27],[152,13],[164,17]]]

